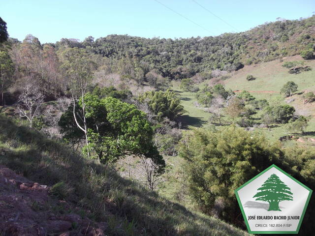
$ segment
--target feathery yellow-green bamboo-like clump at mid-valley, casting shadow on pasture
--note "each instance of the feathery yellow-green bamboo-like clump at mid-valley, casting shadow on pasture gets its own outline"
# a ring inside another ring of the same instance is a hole
[[[157,115],[158,119],[167,117],[170,120],[176,119],[186,111],[180,105],[181,100],[177,98],[176,93],[171,90],[147,91],[138,97],[142,103],[148,103],[150,109]]]

